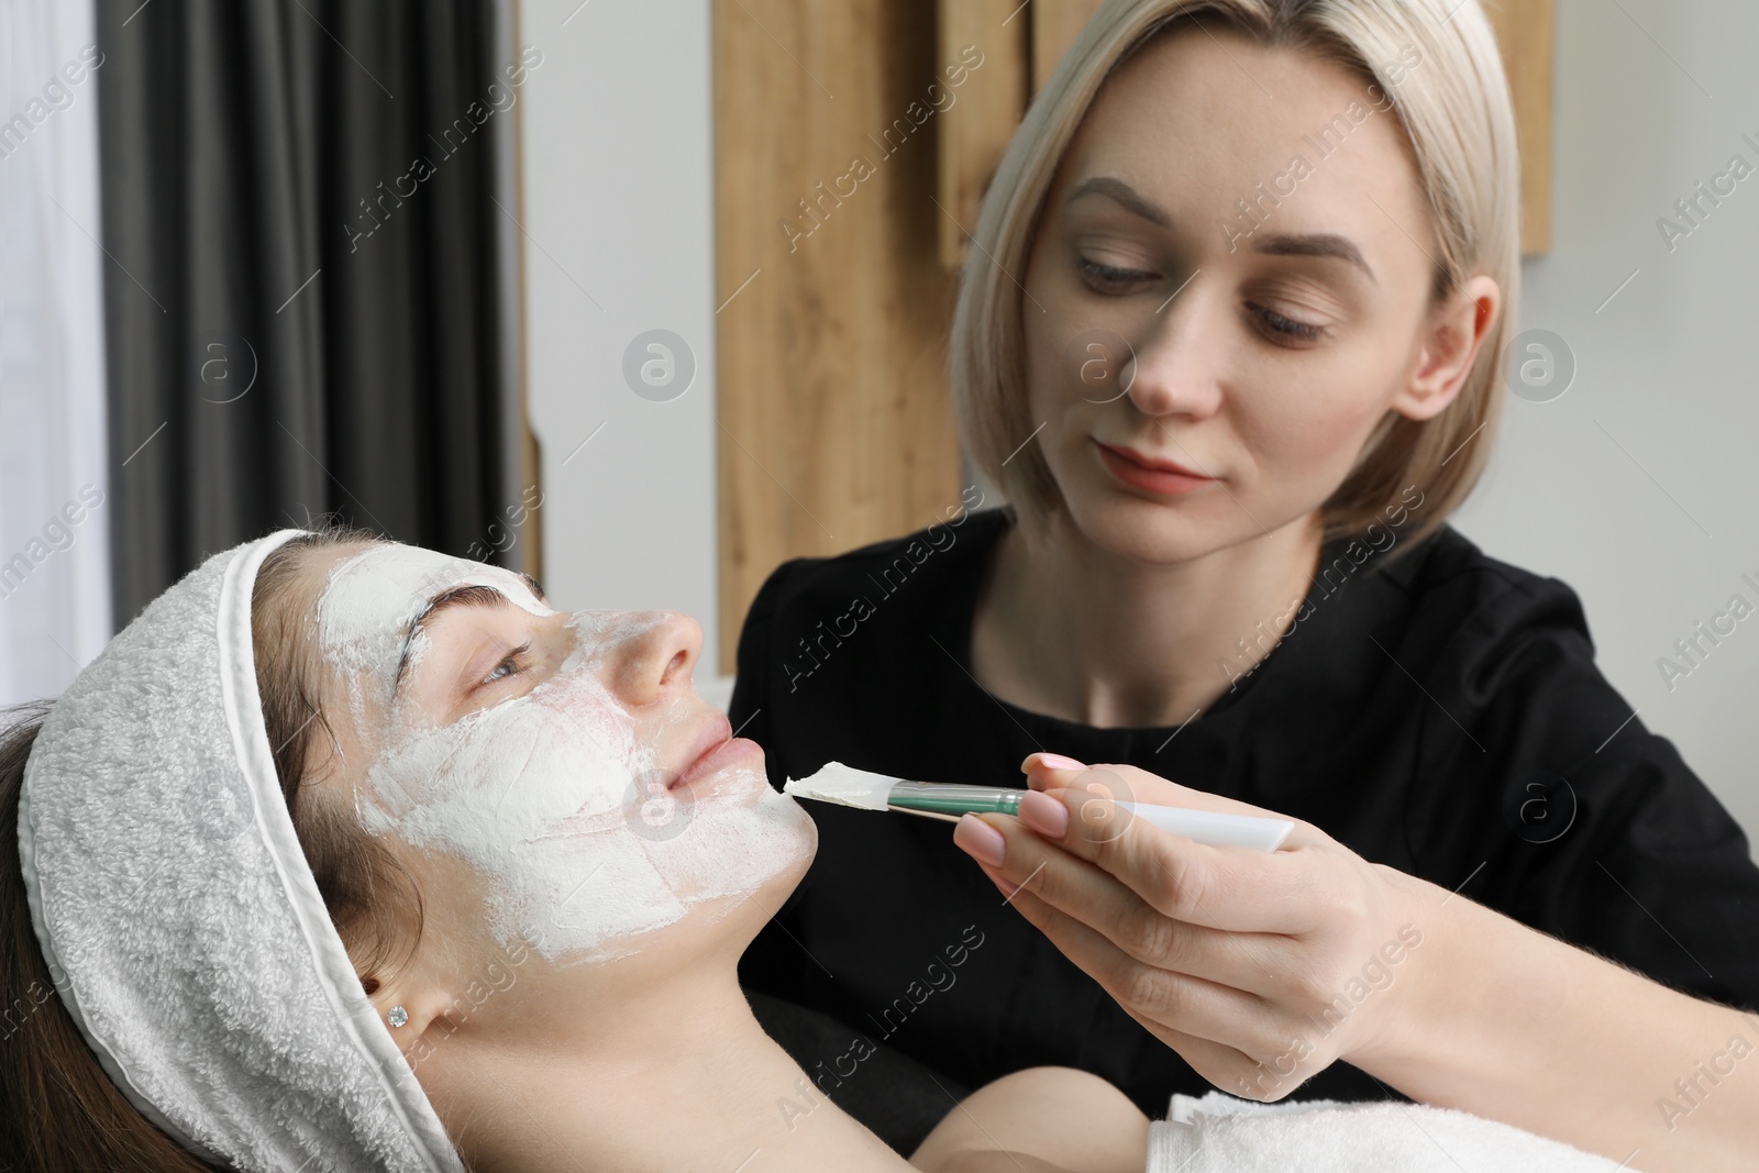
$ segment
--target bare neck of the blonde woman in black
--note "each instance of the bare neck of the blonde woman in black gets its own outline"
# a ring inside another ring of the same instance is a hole
[[[1208,709],[1295,626],[1319,557],[1302,517],[1180,563],[1087,540],[1066,512],[1001,540],[973,670],[1025,709],[1094,726],[1171,726]]]

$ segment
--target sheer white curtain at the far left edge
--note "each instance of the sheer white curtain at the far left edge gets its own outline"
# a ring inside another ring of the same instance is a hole
[[[111,637],[93,9],[0,0],[0,703]]]

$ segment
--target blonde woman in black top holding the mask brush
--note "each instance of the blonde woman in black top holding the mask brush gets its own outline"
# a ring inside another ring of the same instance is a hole
[[[1750,1164],[1747,841],[1597,672],[1574,593],[1446,524],[1495,436],[1518,208],[1476,0],[1098,11],[962,274],[982,484],[779,568],[732,712],[777,784],[841,760],[1066,793],[957,848],[816,809],[749,988],[971,1085],[1402,1092],[1629,1168]],[[1302,830],[1266,858],[1099,834],[1094,784]],[[1015,920],[901,1001],[980,914]]]

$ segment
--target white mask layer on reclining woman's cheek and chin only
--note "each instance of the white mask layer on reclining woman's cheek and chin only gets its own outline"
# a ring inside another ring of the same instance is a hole
[[[811,844],[811,821],[762,772],[660,790],[635,721],[579,665],[526,696],[394,739],[361,821],[463,858],[485,881],[503,948],[609,958],[691,904],[758,888]],[[675,804],[649,823],[654,791]],[[644,811],[647,804],[647,811]]]

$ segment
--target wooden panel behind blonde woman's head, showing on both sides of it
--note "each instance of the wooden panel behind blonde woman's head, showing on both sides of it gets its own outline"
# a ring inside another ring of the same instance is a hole
[[[1033,0],[1033,90],[1045,84],[1099,0]],[[1551,248],[1553,0],[1486,0],[1522,144],[1522,251]]]

